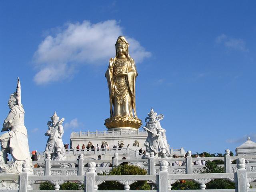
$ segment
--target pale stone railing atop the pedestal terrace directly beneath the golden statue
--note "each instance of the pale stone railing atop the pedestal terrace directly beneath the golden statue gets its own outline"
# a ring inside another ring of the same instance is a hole
[[[78,137],[94,137],[94,136],[106,136],[106,137],[112,137],[112,136],[120,136],[120,135],[148,135],[148,132],[144,130],[119,130],[119,131],[95,131],[95,132],[72,132],[70,138],[78,138]]]

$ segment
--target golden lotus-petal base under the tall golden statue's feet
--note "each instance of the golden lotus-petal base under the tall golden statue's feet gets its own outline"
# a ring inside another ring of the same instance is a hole
[[[112,117],[105,120],[104,125],[108,130],[124,130],[124,129],[134,129],[138,130],[142,125],[140,119],[135,119],[132,117]]]

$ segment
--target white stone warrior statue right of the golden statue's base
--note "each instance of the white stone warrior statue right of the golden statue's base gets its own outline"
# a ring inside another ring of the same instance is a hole
[[[167,144],[165,129],[160,125],[160,120],[164,118],[162,114],[157,116],[157,113],[151,108],[149,117],[146,117],[146,126],[144,130],[148,132],[148,138],[144,143],[147,152],[154,152],[155,156],[166,157],[171,156],[169,145]]]

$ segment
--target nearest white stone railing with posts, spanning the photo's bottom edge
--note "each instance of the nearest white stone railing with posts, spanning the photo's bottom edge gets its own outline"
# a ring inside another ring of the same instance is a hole
[[[192,163],[189,160],[186,163]],[[78,160],[78,164],[82,165],[83,154]],[[38,176],[29,173],[28,162],[23,164],[22,173],[20,176],[10,175],[10,174],[0,174],[0,180],[9,182],[12,184],[19,185],[18,188],[13,187],[12,190],[1,190],[3,192],[40,192],[40,190],[33,190],[32,185],[44,181],[49,181],[54,184],[55,190],[60,189],[60,184],[64,182],[80,182],[85,186],[84,192],[94,192],[98,190],[98,185],[106,181],[117,181],[124,186],[124,190],[129,190],[130,185],[134,182],[140,180],[146,180],[154,190],[144,190],[144,192],[168,192],[172,188],[172,184],[178,182],[179,180],[193,180],[194,182],[200,184],[201,190],[206,190],[206,184],[215,179],[224,179],[230,182],[235,183],[236,189],[215,189],[207,190],[209,192],[248,192],[256,191],[256,189],[250,189],[250,182],[256,180],[255,172],[247,172],[246,164],[244,158],[238,158],[237,162],[237,171],[235,173],[217,173],[217,174],[170,174],[168,166],[169,162],[166,160],[160,160],[159,162],[159,172],[158,174],[149,174],[149,175],[118,175],[118,176],[108,176],[108,175],[97,175],[96,173],[96,162],[88,162],[88,168],[84,172],[83,167],[78,167],[77,175],[50,175],[48,172],[46,175]],[[50,161],[46,162],[50,163]],[[230,163],[229,163],[230,164]],[[16,186],[17,187],[17,186]],[[47,190],[51,191],[51,190]],[[79,191],[79,190],[77,190]],[[80,190],[82,191],[82,190]],[[131,190],[132,192],[138,192],[136,190]],[[142,191],[142,190],[140,190]],[[184,190],[173,190],[177,192],[184,192]],[[198,190],[186,190],[186,192],[196,192]],[[119,192],[119,191],[117,191]]]

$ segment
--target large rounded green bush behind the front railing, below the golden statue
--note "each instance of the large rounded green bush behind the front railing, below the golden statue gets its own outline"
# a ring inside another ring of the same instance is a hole
[[[119,165],[113,168],[107,175],[146,175],[147,170],[134,165]],[[100,175],[100,174],[99,174]],[[106,174],[105,174],[106,175]],[[124,190],[124,186],[116,181],[107,181],[98,186],[98,190]],[[147,181],[138,181],[130,185],[131,190],[150,190]]]

